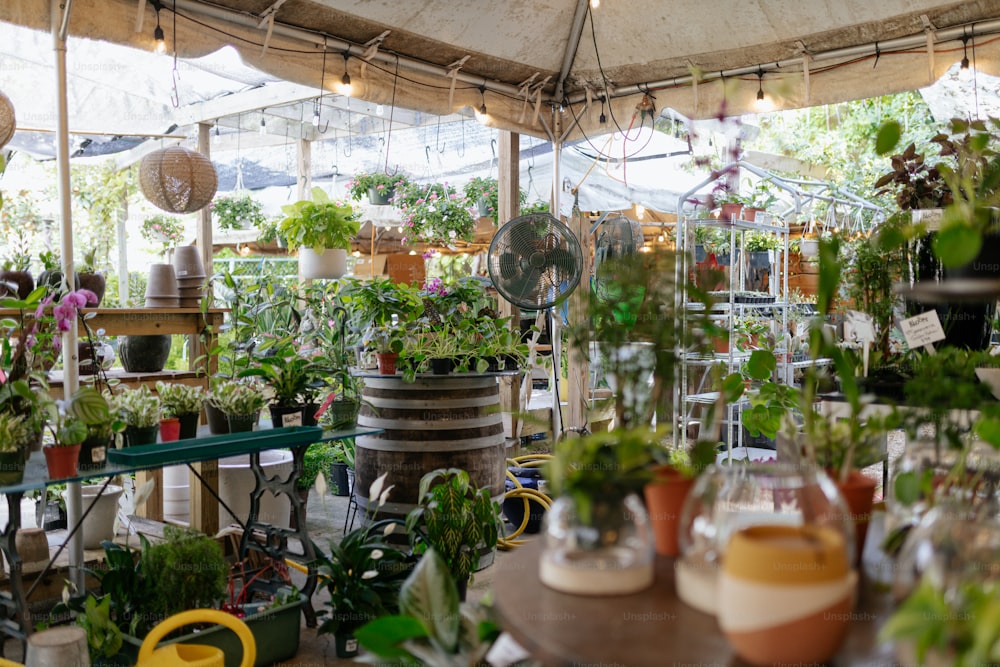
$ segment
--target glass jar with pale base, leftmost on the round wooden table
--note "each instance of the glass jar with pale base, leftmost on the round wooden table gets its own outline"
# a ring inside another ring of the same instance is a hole
[[[584,522],[576,501],[560,496],[545,513],[539,577],[578,595],[623,595],[653,583],[653,532],[642,501],[591,499]]]

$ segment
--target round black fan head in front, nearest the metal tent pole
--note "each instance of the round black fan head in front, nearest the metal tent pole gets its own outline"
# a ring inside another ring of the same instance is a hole
[[[487,265],[505,299],[525,310],[545,310],[580,282],[583,251],[569,227],[548,213],[531,213],[500,227]]]

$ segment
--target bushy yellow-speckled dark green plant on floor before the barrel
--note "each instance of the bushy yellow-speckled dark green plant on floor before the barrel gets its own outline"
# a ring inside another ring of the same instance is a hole
[[[469,473],[457,468],[425,474],[418,493],[417,506],[406,516],[414,553],[437,551],[464,600],[472,572],[496,549],[500,508],[486,489],[476,487]]]

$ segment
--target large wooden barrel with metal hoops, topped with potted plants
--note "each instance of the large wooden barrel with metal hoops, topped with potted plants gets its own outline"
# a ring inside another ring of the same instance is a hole
[[[496,376],[366,377],[358,426],[378,435],[356,439],[354,494],[362,512],[368,489],[388,473],[393,485],[379,517],[405,517],[419,500],[420,478],[437,468],[461,468],[481,489],[504,492],[506,449]]]

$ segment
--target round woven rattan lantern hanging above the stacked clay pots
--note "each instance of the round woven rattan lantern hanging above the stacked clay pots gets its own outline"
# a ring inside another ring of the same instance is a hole
[[[171,146],[150,153],[139,164],[142,194],[170,213],[194,213],[204,208],[217,186],[212,161],[198,151]]]

